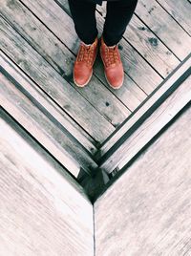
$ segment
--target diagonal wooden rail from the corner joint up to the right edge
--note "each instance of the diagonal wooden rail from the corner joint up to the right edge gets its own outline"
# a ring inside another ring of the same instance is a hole
[[[188,57],[184,65],[182,64],[180,66],[180,71],[183,71],[183,73],[180,73],[179,76],[178,69],[177,73],[175,72],[169,80],[159,87],[159,91],[156,92],[157,98],[155,94],[153,94],[153,98],[150,97],[150,100],[145,103],[146,108],[144,108],[143,105],[139,109],[138,115],[143,110],[139,120],[131,125],[129,130],[126,130],[124,136],[120,136],[111,150],[106,150],[106,154],[103,155],[102,159],[100,158],[100,154],[103,148],[100,149],[97,155],[100,168],[108,173],[111,173],[116,167],[121,169],[190,101],[190,62],[191,57]],[[153,101],[154,98],[156,98],[156,100]],[[147,109],[150,102],[153,102],[153,106]],[[144,113],[146,109],[147,111]],[[127,122],[126,125],[128,126],[129,123]],[[118,135],[119,134],[120,131]]]

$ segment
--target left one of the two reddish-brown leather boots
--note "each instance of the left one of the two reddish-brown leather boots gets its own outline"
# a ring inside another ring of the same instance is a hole
[[[74,62],[74,83],[78,87],[87,85],[93,75],[93,65],[96,60],[98,39],[92,45],[81,42]]]

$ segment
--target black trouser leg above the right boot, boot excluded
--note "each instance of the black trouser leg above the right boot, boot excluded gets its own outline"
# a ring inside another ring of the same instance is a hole
[[[107,3],[103,39],[107,46],[116,45],[122,38],[136,9],[138,0],[120,0]]]

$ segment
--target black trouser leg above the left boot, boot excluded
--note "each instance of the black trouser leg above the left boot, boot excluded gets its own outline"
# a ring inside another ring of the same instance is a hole
[[[74,28],[79,39],[85,44],[94,43],[98,34],[96,29],[96,4],[86,0],[69,0]]]

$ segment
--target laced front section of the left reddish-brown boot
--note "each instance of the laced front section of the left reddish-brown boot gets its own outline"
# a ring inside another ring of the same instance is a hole
[[[94,61],[94,46],[86,46],[82,43],[79,49],[77,61],[85,62],[86,65],[91,66]]]

